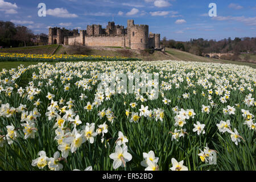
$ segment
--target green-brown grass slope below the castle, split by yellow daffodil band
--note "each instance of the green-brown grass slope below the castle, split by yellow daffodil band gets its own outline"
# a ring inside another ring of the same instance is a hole
[[[82,55],[100,55],[100,56],[125,56],[125,57],[134,57],[142,59],[144,61],[154,61],[154,60],[184,60],[184,61],[200,61],[207,63],[224,63],[224,64],[237,64],[237,65],[248,65],[252,68],[256,68],[254,63],[245,63],[239,61],[229,61],[222,59],[212,59],[208,57],[201,57],[192,55],[188,52],[179,51],[177,49],[166,48],[166,53],[155,51],[154,53],[148,53],[144,51],[142,54],[131,52],[130,49],[125,48],[109,48],[109,49],[91,49],[88,47],[73,47],[73,46],[34,46],[34,47],[21,47],[21,48],[9,48],[9,49],[0,49],[0,52],[14,52],[14,53],[35,53],[35,54],[82,54]],[[33,62],[12,62],[0,64],[0,70],[2,68],[10,69],[17,68],[18,65],[30,65],[36,64]]]

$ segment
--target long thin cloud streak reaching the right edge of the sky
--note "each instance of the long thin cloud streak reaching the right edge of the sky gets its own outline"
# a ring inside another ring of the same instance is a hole
[[[216,16],[216,17],[213,17],[212,19],[216,19],[219,21],[233,20],[233,21],[245,23],[248,26],[256,26],[256,16],[249,17],[249,18],[246,18],[245,16]]]

